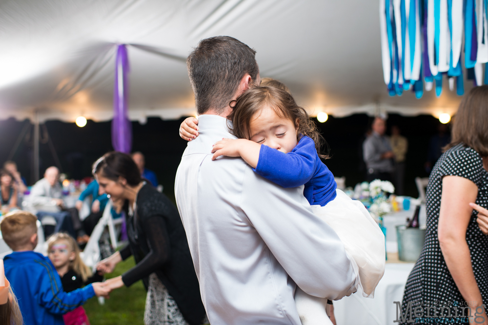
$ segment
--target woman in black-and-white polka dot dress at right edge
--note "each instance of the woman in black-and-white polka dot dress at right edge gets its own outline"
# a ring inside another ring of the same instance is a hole
[[[469,205],[488,208],[488,86],[461,101],[447,148],[429,177],[426,242],[408,276],[400,324],[488,324],[481,308],[488,236]]]

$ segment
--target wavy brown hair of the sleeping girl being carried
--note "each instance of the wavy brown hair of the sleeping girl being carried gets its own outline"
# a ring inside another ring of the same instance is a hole
[[[329,158],[328,153],[321,153],[322,146],[326,145],[325,139],[305,109],[297,105],[291,94],[276,87],[251,88],[239,96],[232,113],[228,116],[232,121],[232,127],[229,127],[230,133],[241,139],[249,139],[253,116],[266,106],[272,108],[278,116],[289,118],[295,126],[298,125],[297,141],[304,135],[312,138],[319,157]]]

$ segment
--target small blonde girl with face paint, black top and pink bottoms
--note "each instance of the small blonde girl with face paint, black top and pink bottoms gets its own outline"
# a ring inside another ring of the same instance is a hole
[[[71,292],[93,282],[100,282],[103,276],[92,274],[80,257],[80,249],[73,237],[58,232],[47,240],[48,257],[61,278],[65,292]],[[90,325],[83,306],[63,315],[65,325]]]

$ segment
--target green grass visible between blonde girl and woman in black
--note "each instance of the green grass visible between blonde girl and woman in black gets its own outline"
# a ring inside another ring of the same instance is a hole
[[[121,275],[135,265],[130,257],[117,265],[113,273],[106,274],[107,279]],[[97,298],[86,302],[84,308],[91,325],[143,325],[146,290],[142,281],[130,287],[121,287],[110,293],[110,299],[105,299],[105,305],[100,305]]]

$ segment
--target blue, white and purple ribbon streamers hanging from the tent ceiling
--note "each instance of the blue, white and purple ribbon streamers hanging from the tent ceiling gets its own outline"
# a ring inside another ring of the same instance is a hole
[[[383,76],[390,96],[434,88],[464,94],[463,69],[474,85],[488,84],[488,0],[380,0]],[[464,33],[463,33],[464,32]],[[464,48],[462,47],[464,37]],[[464,50],[464,55],[462,52]],[[486,70],[486,69],[485,69]]]

